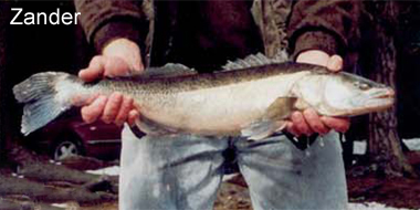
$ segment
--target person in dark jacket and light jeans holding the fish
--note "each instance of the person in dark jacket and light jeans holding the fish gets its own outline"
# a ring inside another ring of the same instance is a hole
[[[75,0],[87,39],[99,53],[80,72],[81,78],[144,71],[149,23],[141,3]],[[287,42],[296,62],[339,71],[339,55],[357,41],[359,8],[358,1],[349,0],[155,1],[148,63],[181,63],[199,73],[211,72],[228,60],[259,52],[273,55],[281,49],[271,46]],[[133,125],[141,113],[120,93],[85,104],[82,116],[88,123],[101,118]],[[190,135],[139,138],[125,126],[119,207],[212,209],[221,178],[233,162],[250,187],[254,209],[346,209],[336,132],[348,126],[348,119],[318,116],[313,109],[293,113],[286,130],[315,141],[305,147],[296,146],[290,135],[260,141]]]

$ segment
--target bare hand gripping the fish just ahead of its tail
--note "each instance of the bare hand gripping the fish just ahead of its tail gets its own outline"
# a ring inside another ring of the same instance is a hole
[[[104,76],[125,76],[141,71],[144,65],[138,45],[127,39],[117,39],[104,48],[102,55],[94,56],[90,65],[78,72],[78,77],[92,82]],[[119,126],[125,122],[133,125],[139,116],[134,99],[117,92],[109,96],[75,97],[73,101],[83,105],[81,113],[86,123],[101,118],[105,123],[115,123]]]

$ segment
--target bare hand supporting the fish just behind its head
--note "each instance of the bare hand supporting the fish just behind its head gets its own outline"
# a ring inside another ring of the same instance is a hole
[[[329,56],[319,50],[302,52],[296,62],[326,66],[332,72],[339,72],[343,69],[343,59],[339,55]],[[348,118],[319,116],[313,108],[307,108],[303,112],[292,113],[286,129],[295,136],[311,136],[314,133],[325,135],[330,129],[344,133],[349,126]]]

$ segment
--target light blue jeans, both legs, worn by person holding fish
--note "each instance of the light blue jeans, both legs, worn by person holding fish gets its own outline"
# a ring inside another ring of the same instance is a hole
[[[342,148],[335,132],[306,150],[284,135],[264,140],[189,135],[138,139],[123,130],[120,210],[212,209],[234,154],[253,209],[346,209]]]

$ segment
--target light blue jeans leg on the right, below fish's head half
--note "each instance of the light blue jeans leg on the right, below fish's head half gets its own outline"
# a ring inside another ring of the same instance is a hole
[[[306,150],[285,136],[238,140],[238,164],[255,210],[347,208],[347,186],[338,134],[330,132]]]

